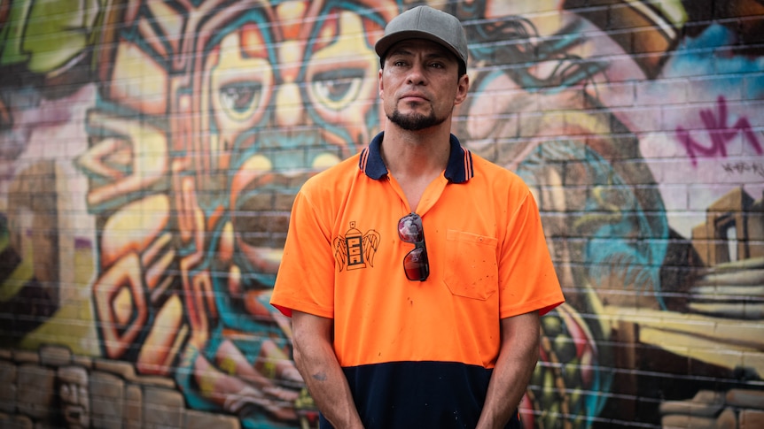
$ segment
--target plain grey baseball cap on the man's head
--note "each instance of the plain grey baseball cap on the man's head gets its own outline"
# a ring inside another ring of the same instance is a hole
[[[374,45],[380,58],[397,42],[406,39],[426,39],[440,43],[454,52],[467,67],[467,37],[462,23],[455,16],[430,6],[417,6],[391,19],[385,35]]]

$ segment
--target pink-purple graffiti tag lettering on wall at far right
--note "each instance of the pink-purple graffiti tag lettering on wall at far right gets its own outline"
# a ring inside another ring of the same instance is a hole
[[[692,160],[692,165],[698,165],[698,155],[701,157],[711,157],[719,154],[721,157],[727,157],[727,144],[735,138],[738,133],[743,133],[745,140],[747,140],[752,148],[756,150],[757,154],[761,154],[762,149],[759,140],[756,138],[756,134],[753,134],[751,123],[748,119],[741,117],[737,119],[734,126],[728,126],[728,112],[727,101],[724,96],[719,96],[717,103],[717,114],[711,109],[702,109],[700,111],[700,119],[703,120],[703,124],[706,126],[708,135],[711,138],[711,146],[706,147],[699,143],[690,136],[690,132],[684,129],[682,126],[676,127],[676,136],[684,149],[687,149],[687,154]]]

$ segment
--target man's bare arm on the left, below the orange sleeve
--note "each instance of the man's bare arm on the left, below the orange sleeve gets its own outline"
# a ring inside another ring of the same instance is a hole
[[[318,409],[334,427],[363,428],[353,396],[331,346],[333,320],[292,311],[294,363]]]

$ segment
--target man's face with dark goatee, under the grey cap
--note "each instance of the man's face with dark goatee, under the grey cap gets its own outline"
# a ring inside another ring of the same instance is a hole
[[[458,68],[456,57],[436,42],[412,39],[394,44],[379,72],[387,119],[411,131],[446,121],[469,88]]]

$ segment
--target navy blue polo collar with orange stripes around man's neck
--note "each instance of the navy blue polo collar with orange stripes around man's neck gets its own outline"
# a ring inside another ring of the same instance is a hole
[[[377,134],[369,146],[363,149],[358,160],[358,168],[374,180],[382,179],[387,175],[387,167],[382,161],[379,150],[382,146],[383,135],[385,132]],[[446,179],[452,183],[464,183],[475,175],[472,171],[472,152],[464,149],[454,134],[451,134],[450,144],[451,153],[448,155],[448,165],[446,165]]]

